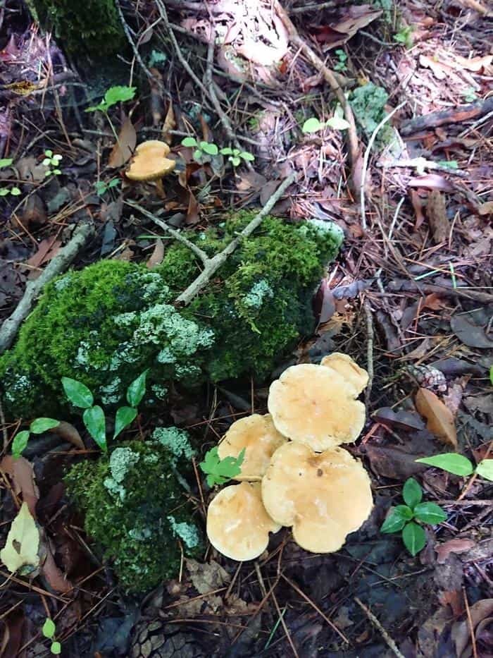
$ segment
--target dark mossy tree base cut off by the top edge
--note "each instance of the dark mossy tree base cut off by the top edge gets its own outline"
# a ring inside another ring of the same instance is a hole
[[[32,0],[39,20],[73,53],[107,55],[125,44],[113,0]]]

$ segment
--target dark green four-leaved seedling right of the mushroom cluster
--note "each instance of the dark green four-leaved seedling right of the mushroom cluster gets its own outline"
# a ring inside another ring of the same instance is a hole
[[[405,505],[393,507],[380,527],[380,532],[401,532],[404,546],[411,555],[425,547],[426,535],[420,523],[437,525],[447,519],[447,514],[436,503],[422,503],[423,489],[413,477],[404,483],[402,497]]]

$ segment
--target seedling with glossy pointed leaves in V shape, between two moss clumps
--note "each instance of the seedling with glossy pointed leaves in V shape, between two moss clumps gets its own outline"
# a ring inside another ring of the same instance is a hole
[[[121,434],[125,427],[128,427],[137,418],[137,407],[146,392],[147,372],[147,370],[144,370],[128,386],[126,397],[127,403],[130,406],[123,406],[116,410],[113,439],[116,439],[118,434]],[[61,381],[68,400],[73,406],[84,410],[82,421],[87,432],[89,432],[101,450],[106,452],[108,450],[108,441],[106,439],[106,416],[103,408],[94,404],[92,391],[85,384],[82,384],[82,382],[78,382],[77,379],[70,379],[70,377],[62,377]]]

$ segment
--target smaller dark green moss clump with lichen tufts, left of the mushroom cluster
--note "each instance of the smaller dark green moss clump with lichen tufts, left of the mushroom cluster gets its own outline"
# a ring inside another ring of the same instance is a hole
[[[177,575],[178,540],[187,556],[202,552],[175,457],[157,441],[122,442],[109,458],[83,461],[65,476],[87,534],[128,592],[146,592]]]

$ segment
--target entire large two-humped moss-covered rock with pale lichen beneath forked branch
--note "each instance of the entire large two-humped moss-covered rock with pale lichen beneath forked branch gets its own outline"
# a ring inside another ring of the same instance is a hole
[[[190,238],[213,255],[249,219],[251,213],[242,212]],[[84,382],[105,405],[118,403],[146,368],[151,400],[163,399],[172,382],[190,387],[204,374],[213,382],[266,377],[300,334],[312,330],[313,287],[341,239],[328,222],[267,217],[182,310],[173,299],[201,263],[181,243],[171,245],[152,272],[104,261],[61,276],[0,358],[6,413],[56,413],[61,377]]]

